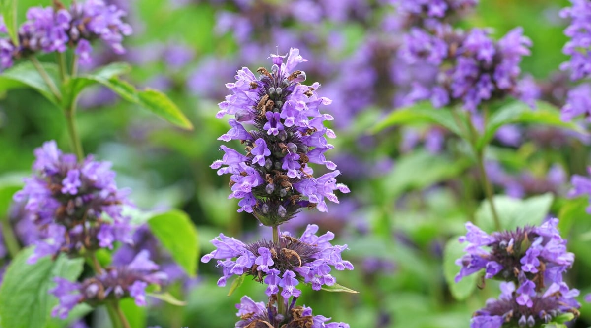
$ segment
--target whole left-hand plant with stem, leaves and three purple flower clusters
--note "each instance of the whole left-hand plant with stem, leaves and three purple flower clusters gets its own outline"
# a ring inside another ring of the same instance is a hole
[[[0,38],[0,65],[5,68],[3,78],[16,82],[15,86],[22,84],[39,91],[63,110],[73,150],[62,152],[54,141],[35,149],[34,175],[25,179],[24,188],[14,195],[17,204],[24,204],[20,221],[27,223],[34,230],[31,235],[36,237],[27,242],[34,244],[34,250],[26,265],[47,263],[46,257],[51,261],[86,260],[90,270],[80,282],[53,276],[57,286],[50,293],[59,299],[53,316],[64,319],[79,303],[104,305],[113,326],[129,328],[119,300],[132,297],[138,306],[145,306],[146,288],[152,285],[158,290],[168,277],[150,259],[147,250],[139,250],[124,264],[99,261],[97,252],[132,243],[133,227],[130,218],[123,214],[124,206],[132,204],[129,191],[116,186],[111,163],[84,156],[75,124],[77,98],[87,86],[101,83],[129,101],[156,109],[181,127],[190,128],[191,123],[160,91],[136,90],[119,80],[118,76],[129,70],[128,65],[117,63],[104,71],[99,68],[98,73],[79,74],[79,63],[91,60],[92,41],[102,40],[116,54],[125,52],[123,37],[131,34],[131,27],[122,21],[125,15],[117,6],[102,0],[73,1],[70,8],[59,1],[47,8],[30,8],[16,37]],[[0,31],[8,29],[5,25],[0,27]],[[57,54],[56,64],[42,64],[35,57],[48,53]],[[31,63],[12,67],[16,60]],[[115,87],[119,84],[126,87]],[[76,263],[82,271],[83,261]]]

